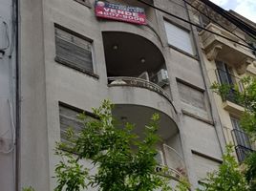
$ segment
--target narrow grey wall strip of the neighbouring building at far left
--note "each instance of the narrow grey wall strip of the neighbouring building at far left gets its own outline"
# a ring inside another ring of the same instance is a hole
[[[16,4],[0,0],[0,190],[15,189]]]

